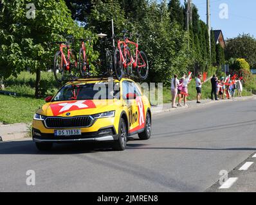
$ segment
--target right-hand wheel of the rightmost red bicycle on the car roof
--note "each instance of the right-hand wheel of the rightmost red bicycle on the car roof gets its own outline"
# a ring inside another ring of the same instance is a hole
[[[142,79],[146,79],[149,75],[149,62],[143,51],[140,51],[137,56],[137,72]]]

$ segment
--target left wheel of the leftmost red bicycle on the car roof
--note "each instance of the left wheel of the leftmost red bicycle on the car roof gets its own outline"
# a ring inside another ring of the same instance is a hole
[[[57,51],[54,57],[54,62],[53,62],[53,73],[58,83],[61,83],[63,81],[64,72],[65,72],[64,61],[62,60],[60,51]]]

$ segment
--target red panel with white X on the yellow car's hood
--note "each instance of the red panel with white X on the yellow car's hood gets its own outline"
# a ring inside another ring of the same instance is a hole
[[[67,111],[84,110],[87,108],[96,108],[95,104],[91,100],[86,101],[70,101],[57,104],[50,104],[53,115],[60,115]]]

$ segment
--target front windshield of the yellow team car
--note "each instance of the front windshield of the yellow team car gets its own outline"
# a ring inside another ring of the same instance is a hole
[[[111,89],[112,87],[112,89]],[[120,98],[119,83],[87,83],[63,86],[53,101]]]

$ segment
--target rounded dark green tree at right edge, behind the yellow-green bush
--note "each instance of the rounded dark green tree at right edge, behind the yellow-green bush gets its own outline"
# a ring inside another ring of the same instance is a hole
[[[256,66],[256,39],[250,34],[242,34],[226,41],[226,58],[244,58],[250,67]]]

